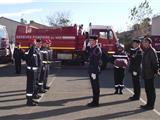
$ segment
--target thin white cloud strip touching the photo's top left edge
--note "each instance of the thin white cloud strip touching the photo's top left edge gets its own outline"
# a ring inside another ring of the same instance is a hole
[[[0,0],[1,4],[23,4],[23,3],[31,3],[33,0]]]

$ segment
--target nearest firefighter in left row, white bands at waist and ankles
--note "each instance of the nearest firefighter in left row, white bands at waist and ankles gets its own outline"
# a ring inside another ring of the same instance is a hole
[[[26,56],[27,64],[27,85],[26,85],[26,98],[28,106],[36,106],[38,102],[34,101],[34,96],[37,95],[37,77],[38,77],[38,67],[40,66],[40,56],[38,53],[38,42],[39,40],[32,39],[32,46],[28,50]]]

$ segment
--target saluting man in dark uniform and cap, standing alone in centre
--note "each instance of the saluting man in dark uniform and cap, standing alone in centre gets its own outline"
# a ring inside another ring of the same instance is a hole
[[[92,86],[93,99],[88,103],[88,107],[99,106],[99,73],[100,73],[100,59],[102,56],[101,48],[97,45],[97,36],[90,36],[90,53],[89,53],[89,68],[88,73]]]

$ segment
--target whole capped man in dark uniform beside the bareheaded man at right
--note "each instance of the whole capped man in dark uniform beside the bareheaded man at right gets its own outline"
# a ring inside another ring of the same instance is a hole
[[[129,100],[139,100],[140,98],[140,73],[142,62],[142,49],[140,47],[141,41],[139,39],[133,39],[132,48],[130,49],[129,58],[129,72],[132,74],[133,91],[134,95]]]

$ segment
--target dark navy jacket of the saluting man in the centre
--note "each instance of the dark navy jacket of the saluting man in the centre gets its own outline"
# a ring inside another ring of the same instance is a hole
[[[96,45],[89,51],[89,73],[98,74],[100,72],[100,60],[102,56],[101,48]]]

